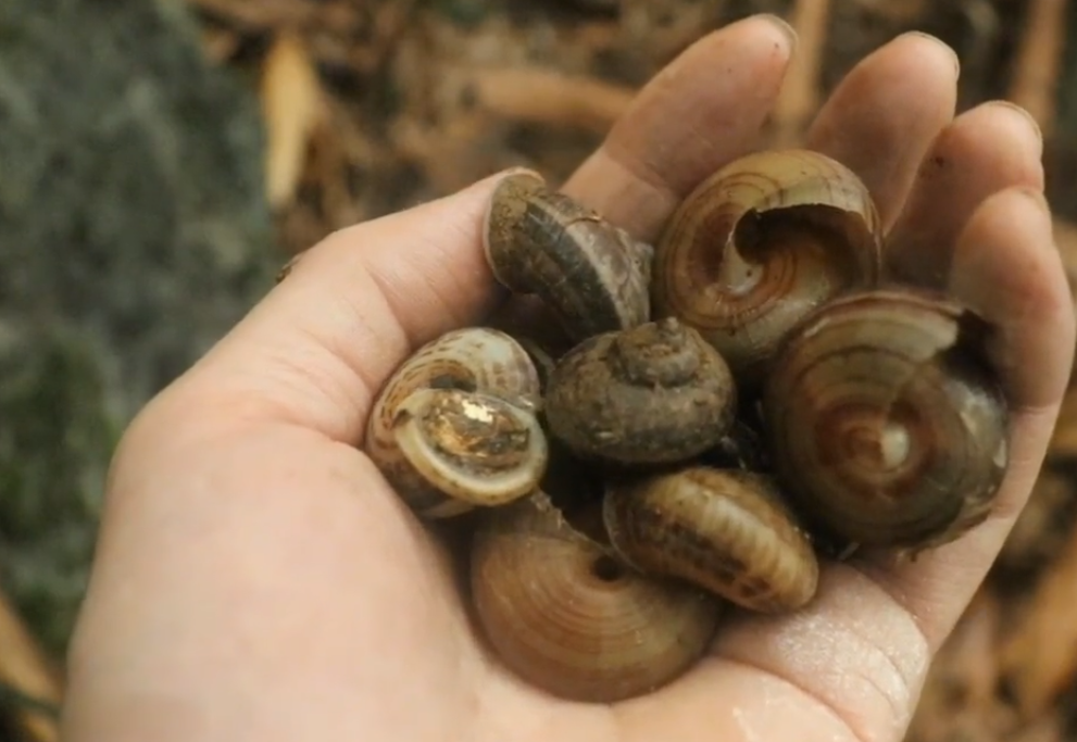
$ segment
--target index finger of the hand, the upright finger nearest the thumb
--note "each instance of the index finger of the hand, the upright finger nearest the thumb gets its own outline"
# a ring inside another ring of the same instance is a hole
[[[643,240],[688,193],[759,143],[792,30],[760,15],[697,41],[658,74],[562,189]]]

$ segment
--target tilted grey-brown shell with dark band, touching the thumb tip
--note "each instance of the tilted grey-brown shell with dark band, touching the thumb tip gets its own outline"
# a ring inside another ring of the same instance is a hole
[[[537,176],[498,185],[483,232],[498,281],[539,297],[574,341],[650,319],[653,249]]]

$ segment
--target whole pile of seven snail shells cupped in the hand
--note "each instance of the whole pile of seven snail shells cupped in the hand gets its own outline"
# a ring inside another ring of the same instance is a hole
[[[990,328],[886,279],[876,206],[838,162],[729,163],[653,246],[515,174],[484,229],[497,280],[558,332],[427,343],[365,449],[421,517],[478,516],[475,614],[534,686],[648,692],[726,608],[797,611],[823,558],[915,555],[988,516],[1007,466]]]

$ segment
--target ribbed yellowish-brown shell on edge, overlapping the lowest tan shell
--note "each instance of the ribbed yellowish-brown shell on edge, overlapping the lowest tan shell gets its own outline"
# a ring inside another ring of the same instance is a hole
[[[812,543],[774,480],[691,466],[611,485],[610,543],[648,575],[687,580],[761,613],[805,605],[818,586]]]

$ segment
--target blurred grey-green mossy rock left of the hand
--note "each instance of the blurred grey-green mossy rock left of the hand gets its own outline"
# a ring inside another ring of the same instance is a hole
[[[184,3],[0,3],[0,583],[57,655],[118,436],[272,284],[263,151]]]

